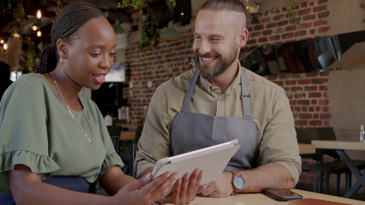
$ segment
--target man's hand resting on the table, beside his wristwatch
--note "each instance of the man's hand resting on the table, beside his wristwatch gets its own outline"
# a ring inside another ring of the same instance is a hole
[[[222,172],[217,180],[205,184],[206,187],[203,192],[204,196],[209,197],[227,197],[235,191],[232,185],[233,174],[230,172]]]

